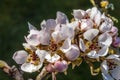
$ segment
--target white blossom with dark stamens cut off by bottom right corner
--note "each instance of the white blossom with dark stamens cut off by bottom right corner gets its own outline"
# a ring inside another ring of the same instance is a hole
[[[108,56],[101,64],[101,71],[104,80],[120,80],[120,56]]]

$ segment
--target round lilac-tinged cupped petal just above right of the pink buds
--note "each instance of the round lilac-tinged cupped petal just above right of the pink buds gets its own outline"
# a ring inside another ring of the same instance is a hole
[[[67,57],[68,60],[74,61],[76,60],[80,55],[79,48],[77,45],[72,45],[71,48],[65,52],[65,56]]]

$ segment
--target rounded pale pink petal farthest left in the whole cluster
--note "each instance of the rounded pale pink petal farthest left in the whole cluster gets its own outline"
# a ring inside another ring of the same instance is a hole
[[[14,53],[12,58],[13,60],[15,60],[17,64],[23,64],[25,63],[27,56],[28,56],[28,53],[26,51],[19,50]]]

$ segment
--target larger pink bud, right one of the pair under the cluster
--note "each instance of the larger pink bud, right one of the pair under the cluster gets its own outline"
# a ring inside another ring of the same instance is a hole
[[[64,72],[68,68],[68,64],[65,60],[56,61],[54,67],[58,72]]]

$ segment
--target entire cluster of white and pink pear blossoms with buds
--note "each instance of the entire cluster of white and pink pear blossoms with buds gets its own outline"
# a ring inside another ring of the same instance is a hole
[[[28,22],[25,50],[14,53],[15,62],[29,73],[43,67],[49,73],[66,72],[70,64],[101,62],[104,80],[120,80],[120,38],[113,20],[96,7],[76,9],[72,15],[69,21],[58,11],[56,19],[41,22],[40,30]]]

